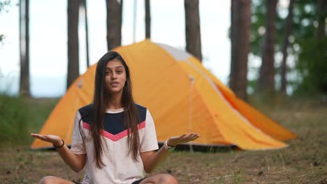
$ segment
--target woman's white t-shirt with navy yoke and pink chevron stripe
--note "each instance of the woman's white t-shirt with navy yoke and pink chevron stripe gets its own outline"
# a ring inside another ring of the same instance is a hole
[[[101,138],[104,141],[101,159],[106,166],[102,169],[96,167],[94,143],[89,133],[90,118],[87,116],[90,107],[87,105],[78,110],[71,145],[73,153],[87,154],[83,183],[129,184],[144,178],[145,170],[140,155],[138,154],[138,161],[133,160],[132,155],[128,155],[127,130],[123,125],[124,109],[108,109],[106,111],[104,128],[101,130]],[[159,146],[153,118],[145,107],[140,105],[136,105],[136,107],[138,107],[140,116],[138,123],[140,147],[138,152],[157,150]],[[82,121],[80,121],[81,118]],[[80,128],[78,128],[79,121]]]

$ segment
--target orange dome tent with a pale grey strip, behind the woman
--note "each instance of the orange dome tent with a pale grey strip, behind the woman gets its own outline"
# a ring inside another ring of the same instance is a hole
[[[296,135],[240,100],[191,54],[144,40],[117,47],[131,70],[134,100],[150,110],[158,141],[189,132],[194,145],[235,145],[245,150],[284,148]],[[61,98],[41,134],[59,135],[69,145],[78,109],[92,102],[96,64]],[[51,144],[35,139],[31,148]]]

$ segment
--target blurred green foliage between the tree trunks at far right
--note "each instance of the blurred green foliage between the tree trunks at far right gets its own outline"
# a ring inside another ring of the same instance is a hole
[[[282,36],[288,7],[277,6],[275,53],[281,53]],[[317,25],[319,17],[327,17],[327,10],[319,13],[317,0],[297,0],[293,7],[293,27],[289,36],[289,56],[293,61],[289,64],[288,85],[294,93],[325,93],[327,94],[327,40],[317,40]],[[266,33],[266,1],[252,0],[252,35],[250,52],[261,57],[261,48]],[[326,22],[325,22],[326,26]],[[281,59],[280,59],[281,61]],[[275,61],[278,67],[280,61]],[[289,62],[289,61],[288,61]],[[280,79],[279,68],[275,78]],[[256,80],[256,79],[254,79]],[[279,84],[279,81],[276,81]],[[255,82],[251,83],[254,87]]]

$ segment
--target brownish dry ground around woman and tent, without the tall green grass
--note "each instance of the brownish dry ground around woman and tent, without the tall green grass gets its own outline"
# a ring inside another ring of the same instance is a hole
[[[327,183],[327,105],[263,108],[298,135],[289,147],[271,151],[175,151],[153,174],[168,173],[179,183]],[[0,148],[2,183],[38,183],[44,176],[81,181],[57,152],[29,146]]]

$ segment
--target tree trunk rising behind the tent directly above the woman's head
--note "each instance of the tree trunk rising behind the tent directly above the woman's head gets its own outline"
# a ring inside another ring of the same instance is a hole
[[[122,3],[106,0],[107,3],[107,46],[108,50],[122,45]]]

